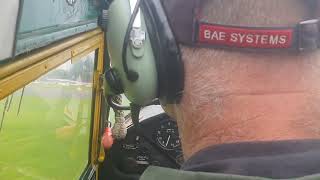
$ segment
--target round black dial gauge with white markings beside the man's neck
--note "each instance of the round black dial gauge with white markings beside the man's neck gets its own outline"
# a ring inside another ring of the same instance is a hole
[[[165,150],[180,148],[181,145],[178,134],[177,124],[170,121],[162,123],[156,132],[157,143]]]

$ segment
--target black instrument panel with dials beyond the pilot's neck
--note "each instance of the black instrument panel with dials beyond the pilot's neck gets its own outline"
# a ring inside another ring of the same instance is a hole
[[[138,129],[129,127],[127,137],[116,141],[108,156],[113,167],[106,171],[113,168],[125,175],[140,175],[150,165],[179,169],[184,162],[177,124],[166,114],[143,120]]]

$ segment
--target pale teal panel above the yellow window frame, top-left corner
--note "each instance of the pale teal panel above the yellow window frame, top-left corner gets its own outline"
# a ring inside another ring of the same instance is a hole
[[[1,3],[2,12],[6,12],[6,8],[11,9],[12,13],[0,18],[0,40],[9,41],[6,45],[9,49],[7,55],[1,55],[0,51],[0,63],[13,56],[96,28],[99,1],[11,0]],[[8,39],[8,32],[14,37]]]

